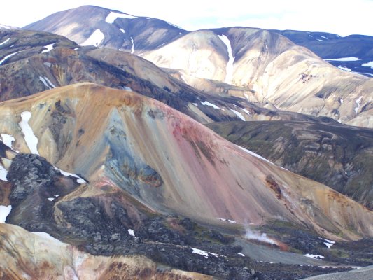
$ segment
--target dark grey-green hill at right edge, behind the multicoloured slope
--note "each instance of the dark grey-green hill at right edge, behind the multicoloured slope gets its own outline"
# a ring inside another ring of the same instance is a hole
[[[373,130],[286,121],[220,122],[207,127],[373,209]]]

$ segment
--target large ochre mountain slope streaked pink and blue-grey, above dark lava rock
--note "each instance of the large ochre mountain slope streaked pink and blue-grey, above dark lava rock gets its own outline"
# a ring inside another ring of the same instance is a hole
[[[15,137],[15,149],[29,152],[18,123],[30,111],[43,157],[93,187],[118,186],[150,209],[209,223],[280,219],[335,239],[373,235],[372,211],[139,94],[83,83],[0,109],[1,133]]]

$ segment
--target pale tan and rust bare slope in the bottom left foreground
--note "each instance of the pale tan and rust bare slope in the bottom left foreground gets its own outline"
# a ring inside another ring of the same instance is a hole
[[[142,256],[94,256],[48,235],[0,224],[3,279],[212,279],[157,265]]]

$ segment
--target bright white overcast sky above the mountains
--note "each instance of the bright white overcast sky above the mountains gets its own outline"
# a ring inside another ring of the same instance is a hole
[[[183,29],[260,27],[373,36],[373,0],[1,1],[0,24],[23,27],[51,13],[94,5],[167,20]]]

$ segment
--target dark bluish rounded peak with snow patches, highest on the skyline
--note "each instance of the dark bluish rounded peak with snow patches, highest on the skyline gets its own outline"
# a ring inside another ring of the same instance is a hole
[[[136,17],[97,6],[54,13],[23,29],[59,34],[80,45],[136,53],[153,50],[187,33],[164,20]]]

